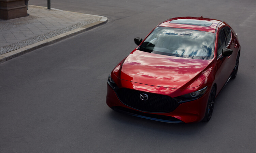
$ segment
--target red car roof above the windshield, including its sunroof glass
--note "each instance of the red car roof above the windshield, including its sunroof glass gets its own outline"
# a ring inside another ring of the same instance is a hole
[[[204,17],[177,17],[163,21],[158,27],[182,28],[215,33],[220,22],[222,21]]]

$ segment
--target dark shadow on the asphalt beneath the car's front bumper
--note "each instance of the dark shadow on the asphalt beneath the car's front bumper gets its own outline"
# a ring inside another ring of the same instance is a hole
[[[126,132],[137,130],[155,131],[172,135],[196,135],[202,129],[205,129],[209,123],[198,122],[189,124],[173,124],[130,116],[113,110],[109,111],[108,117],[116,123],[113,125],[115,130]]]

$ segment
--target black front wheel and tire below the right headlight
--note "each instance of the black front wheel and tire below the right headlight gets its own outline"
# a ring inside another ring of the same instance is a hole
[[[209,99],[208,99],[205,115],[202,120],[203,122],[208,122],[212,117],[214,103],[215,103],[215,96],[216,96],[216,88],[215,88],[215,86],[213,86],[210,96],[209,96]]]

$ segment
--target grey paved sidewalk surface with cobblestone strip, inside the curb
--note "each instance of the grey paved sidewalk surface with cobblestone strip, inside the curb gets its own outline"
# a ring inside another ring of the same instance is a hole
[[[27,17],[0,19],[0,55],[95,23],[102,16],[28,5]]]

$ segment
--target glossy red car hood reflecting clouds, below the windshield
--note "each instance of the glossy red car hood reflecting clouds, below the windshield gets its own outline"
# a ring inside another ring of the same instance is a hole
[[[120,79],[167,88],[199,86],[212,60],[197,60],[134,50],[123,63]]]

